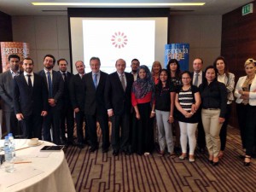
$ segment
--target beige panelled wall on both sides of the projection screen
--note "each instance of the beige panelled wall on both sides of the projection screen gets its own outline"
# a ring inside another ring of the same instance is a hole
[[[67,16],[13,16],[12,25],[14,41],[30,44],[35,72],[46,54],[70,60]],[[220,54],[221,26],[221,15],[171,15],[169,43],[190,45],[189,69],[198,56],[206,67]]]

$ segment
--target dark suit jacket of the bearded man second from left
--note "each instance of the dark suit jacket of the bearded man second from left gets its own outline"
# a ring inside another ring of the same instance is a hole
[[[48,109],[48,90],[44,79],[34,73],[32,91],[29,90],[24,74],[14,79],[14,108],[15,113],[22,113],[25,117],[34,113],[41,113]]]

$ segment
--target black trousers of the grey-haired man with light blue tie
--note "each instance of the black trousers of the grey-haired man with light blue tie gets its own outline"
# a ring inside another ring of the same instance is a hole
[[[90,146],[93,148],[98,147],[97,133],[96,133],[96,123],[99,122],[102,129],[102,148],[108,148],[109,143],[109,128],[108,128],[108,113],[100,114],[96,113],[94,115],[85,115],[86,121],[88,123],[88,131],[90,137]]]

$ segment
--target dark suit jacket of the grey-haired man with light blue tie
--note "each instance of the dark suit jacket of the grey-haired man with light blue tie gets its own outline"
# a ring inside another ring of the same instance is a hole
[[[85,89],[85,101],[84,101],[84,113],[93,115],[96,112],[98,114],[107,113],[105,106],[104,92],[105,85],[108,79],[108,73],[101,71],[100,80],[95,89],[95,85],[92,79],[92,73],[84,75],[84,89]]]

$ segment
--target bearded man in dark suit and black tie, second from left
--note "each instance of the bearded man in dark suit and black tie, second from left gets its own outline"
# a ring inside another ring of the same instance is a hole
[[[26,57],[22,62],[24,73],[14,79],[14,108],[16,118],[23,120],[26,138],[42,139],[43,117],[47,115],[48,92],[44,79],[32,72],[33,61]]]

